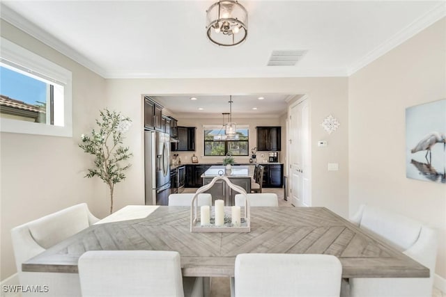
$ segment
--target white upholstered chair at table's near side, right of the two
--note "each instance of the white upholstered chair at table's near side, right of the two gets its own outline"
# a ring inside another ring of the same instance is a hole
[[[339,296],[341,275],[341,262],[332,255],[240,254],[235,296]]]

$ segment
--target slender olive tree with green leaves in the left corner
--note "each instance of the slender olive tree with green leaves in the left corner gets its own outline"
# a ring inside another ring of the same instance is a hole
[[[100,111],[101,120],[96,120],[98,129],[90,135],[82,134],[79,147],[87,154],[93,154],[94,167],[85,177],[99,177],[110,190],[110,214],[113,212],[114,185],[125,179],[124,171],[130,163],[123,163],[132,156],[128,147],[123,147],[123,133],[130,127],[130,118],[116,111]]]

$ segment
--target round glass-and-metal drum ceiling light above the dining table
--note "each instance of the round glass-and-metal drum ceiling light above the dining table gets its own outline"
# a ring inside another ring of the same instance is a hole
[[[206,31],[215,45],[240,45],[248,34],[248,13],[238,1],[220,0],[206,10]]]

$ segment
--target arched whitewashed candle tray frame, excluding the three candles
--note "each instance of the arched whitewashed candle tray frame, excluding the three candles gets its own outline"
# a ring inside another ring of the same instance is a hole
[[[231,208],[224,207],[224,225],[215,226],[213,219],[215,220],[215,207],[210,207],[210,225],[201,226],[201,217],[199,216],[199,207],[198,207],[198,195],[205,191],[208,191],[215,182],[219,180],[224,180],[226,184],[234,191],[237,191],[240,194],[245,196],[245,207],[240,207],[240,212],[243,210],[243,216],[240,214],[240,226],[234,226],[231,222]],[[227,177],[218,176],[214,177],[213,180],[206,184],[206,186],[202,186],[195,192],[194,197],[192,198],[190,207],[190,232],[250,232],[251,231],[251,220],[250,220],[250,211],[249,211],[249,201],[247,197],[247,193],[244,188],[241,186],[237,186],[233,184]],[[214,216],[212,216],[214,214]]]

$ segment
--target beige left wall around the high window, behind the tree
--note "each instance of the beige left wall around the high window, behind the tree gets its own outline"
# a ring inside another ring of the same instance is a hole
[[[105,106],[105,80],[1,21],[1,36],[72,72],[73,137],[0,134],[1,161],[1,280],[15,273],[10,229],[79,202],[93,214],[107,214],[106,188],[97,179],[84,179],[91,165],[77,147]]]

